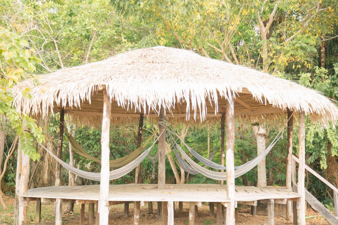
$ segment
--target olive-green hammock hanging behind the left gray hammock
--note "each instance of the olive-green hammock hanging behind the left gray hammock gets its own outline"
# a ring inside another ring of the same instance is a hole
[[[81,145],[75,140],[75,138],[73,138],[73,136],[68,132],[68,130],[65,129],[65,131],[67,134],[68,141],[72,145],[72,150],[74,152],[81,155],[83,158],[93,160],[97,163],[101,163],[101,159],[95,158],[91,156],[90,154],[88,154],[88,152],[86,152],[86,150],[84,150],[81,147]],[[131,161],[135,160],[141,154],[144,147],[148,144],[148,142],[153,138],[155,134],[156,132],[154,132],[154,134],[150,136],[150,138],[141,147],[137,148],[135,151],[131,152],[129,155],[126,155],[126,156],[123,156],[121,158],[117,158],[114,160],[109,160],[109,166],[114,167],[114,168],[123,167],[127,165],[128,163],[130,163]]]

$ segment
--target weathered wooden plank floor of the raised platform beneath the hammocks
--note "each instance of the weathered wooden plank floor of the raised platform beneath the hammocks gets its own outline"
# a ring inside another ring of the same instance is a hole
[[[172,189],[157,189],[157,184],[110,185],[109,201],[187,201],[226,202],[226,186],[221,184],[167,184]],[[155,189],[151,189],[151,188]],[[146,189],[145,189],[146,188]],[[28,190],[23,197],[99,200],[99,185],[51,186]],[[236,201],[298,198],[299,195],[283,187],[257,188],[236,186]]]

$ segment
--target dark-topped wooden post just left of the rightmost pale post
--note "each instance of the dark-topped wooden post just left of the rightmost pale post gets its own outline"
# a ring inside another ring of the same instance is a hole
[[[293,115],[292,111],[288,108],[288,128],[287,128],[287,165],[286,165],[286,189],[292,190],[292,128],[293,128]],[[286,220],[291,220],[291,201],[286,203]]]

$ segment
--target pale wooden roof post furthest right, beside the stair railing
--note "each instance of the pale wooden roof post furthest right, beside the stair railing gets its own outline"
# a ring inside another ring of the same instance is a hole
[[[298,115],[298,194],[299,198],[299,224],[305,225],[305,114],[301,111]]]

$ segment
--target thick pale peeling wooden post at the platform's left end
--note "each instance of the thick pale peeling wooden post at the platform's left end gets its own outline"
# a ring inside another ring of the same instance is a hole
[[[23,126],[25,130],[28,130],[28,127]],[[30,158],[28,155],[22,151],[22,146],[20,145],[20,149],[18,151],[21,152],[21,176],[19,183],[19,211],[18,211],[18,224],[27,224],[27,206],[28,201],[23,199],[21,196],[27,195],[28,190],[28,181],[29,181],[29,162]]]

